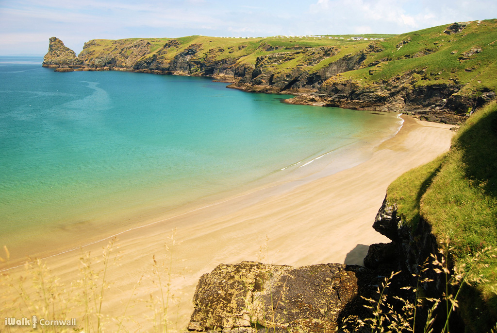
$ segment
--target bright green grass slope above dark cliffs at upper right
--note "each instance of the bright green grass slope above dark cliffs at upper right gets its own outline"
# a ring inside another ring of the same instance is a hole
[[[462,95],[497,88],[497,19],[467,22],[461,31],[448,25],[405,33],[375,43],[383,49],[364,61],[373,72],[360,69],[344,76],[366,84],[390,80],[413,71],[414,86],[441,83],[463,85]],[[447,32],[445,32],[447,31]]]

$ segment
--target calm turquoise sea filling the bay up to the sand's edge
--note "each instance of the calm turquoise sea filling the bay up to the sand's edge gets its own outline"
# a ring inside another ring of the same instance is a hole
[[[357,164],[401,124],[208,78],[56,73],[41,60],[0,57],[0,245],[11,248]]]

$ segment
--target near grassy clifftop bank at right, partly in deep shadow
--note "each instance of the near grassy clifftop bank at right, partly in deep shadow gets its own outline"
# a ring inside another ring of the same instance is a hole
[[[484,309],[497,317],[497,258],[485,252],[497,247],[496,147],[497,105],[491,103],[469,117],[448,153],[401,176],[387,194],[404,223],[427,222],[438,240],[449,239],[452,264],[466,263],[477,277],[475,290],[463,289],[460,302],[472,332],[489,324]],[[475,256],[479,265],[473,266]]]

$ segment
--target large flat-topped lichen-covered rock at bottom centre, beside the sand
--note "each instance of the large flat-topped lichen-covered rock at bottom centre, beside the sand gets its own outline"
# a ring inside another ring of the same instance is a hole
[[[335,332],[346,309],[357,308],[354,302],[370,275],[367,268],[343,264],[220,264],[200,278],[187,329]]]

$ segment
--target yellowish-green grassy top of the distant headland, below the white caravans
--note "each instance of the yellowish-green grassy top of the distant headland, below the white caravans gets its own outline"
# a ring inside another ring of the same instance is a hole
[[[393,35],[367,36],[369,38],[388,38]],[[190,53],[194,53],[196,60],[233,59],[239,64],[255,66],[257,57],[286,52],[294,55],[296,61],[291,61],[291,63],[285,64],[282,68],[293,68],[301,63],[300,60],[304,58],[302,52],[300,52],[302,49],[332,46],[343,48],[350,53],[356,52],[368,44],[369,38],[368,40],[351,40],[350,38],[352,37],[354,36],[274,36],[257,38],[187,36],[180,38],[128,38],[120,40],[94,39],[85,43],[79,57],[91,59],[97,56],[112,55],[118,58],[126,58],[131,54],[131,49],[144,45],[146,46],[146,50],[144,50],[146,52],[143,52],[143,55],[136,59],[137,61],[145,61],[154,55],[158,59],[172,60],[182,52],[188,52],[193,48],[194,52],[190,51]],[[123,50],[128,52],[123,53]]]

